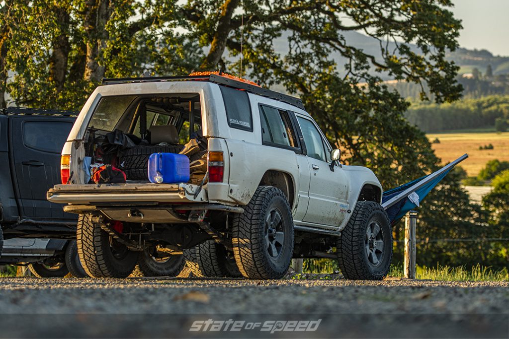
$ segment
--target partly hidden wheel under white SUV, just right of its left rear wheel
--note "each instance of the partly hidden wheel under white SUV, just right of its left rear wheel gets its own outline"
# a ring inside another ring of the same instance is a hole
[[[177,276],[184,268],[183,255],[161,256],[154,250],[139,254],[132,276]]]

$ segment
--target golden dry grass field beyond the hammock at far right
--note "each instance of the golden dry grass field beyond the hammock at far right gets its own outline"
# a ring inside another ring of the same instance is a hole
[[[476,176],[489,160],[509,161],[509,132],[505,133],[441,133],[428,134],[437,157],[446,164],[468,153],[468,159],[460,164],[469,176]],[[479,146],[493,145],[493,149],[479,150]]]

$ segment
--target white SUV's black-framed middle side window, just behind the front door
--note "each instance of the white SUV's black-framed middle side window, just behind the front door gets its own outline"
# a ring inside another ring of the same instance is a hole
[[[298,147],[288,112],[269,106],[260,106],[263,143]]]

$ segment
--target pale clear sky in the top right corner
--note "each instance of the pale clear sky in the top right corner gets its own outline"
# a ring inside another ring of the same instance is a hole
[[[461,47],[509,56],[509,0],[453,0],[453,3],[453,13],[463,21]]]

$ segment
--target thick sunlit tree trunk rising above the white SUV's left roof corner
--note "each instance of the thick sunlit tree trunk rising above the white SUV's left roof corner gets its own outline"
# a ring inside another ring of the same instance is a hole
[[[89,0],[89,11],[85,18],[85,29],[88,34],[84,79],[99,82],[104,77],[104,60],[102,50],[106,47],[108,32],[105,29],[110,16],[109,0]]]

